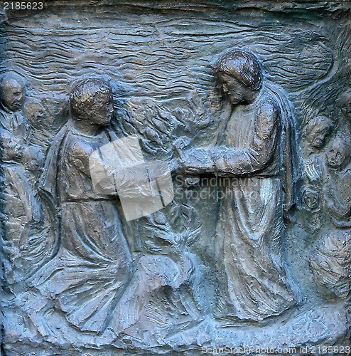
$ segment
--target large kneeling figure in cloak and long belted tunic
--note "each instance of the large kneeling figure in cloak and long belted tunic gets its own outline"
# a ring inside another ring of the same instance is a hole
[[[99,333],[132,272],[117,206],[113,197],[95,193],[89,171],[92,152],[117,138],[104,129],[114,112],[112,89],[100,80],[82,81],[70,94],[70,109],[41,180],[53,201],[60,246],[31,284],[58,300],[72,325]]]

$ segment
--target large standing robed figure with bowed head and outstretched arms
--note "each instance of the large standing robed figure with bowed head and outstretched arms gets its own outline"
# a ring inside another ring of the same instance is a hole
[[[231,106],[221,122],[225,130],[215,147],[184,152],[181,169],[235,179],[225,188],[217,222],[215,316],[261,321],[295,303],[281,256],[283,216],[296,183],[293,116],[253,53],[228,51],[215,74]]]

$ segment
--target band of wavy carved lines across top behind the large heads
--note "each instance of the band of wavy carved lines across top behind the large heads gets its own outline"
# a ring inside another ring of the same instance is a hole
[[[315,43],[313,58],[311,53],[301,51],[296,58],[296,51],[304,48],[314,36],[308,31],[291,42],[288,33],[277,34],[256,28],[256,31],[246,32],[243,40],[243,34],[248,30],[245,26],[205,21],[194,31],[196,24],[196,21],[185,21],[179,26],[172,21],[161,21],[157,26],[141,24],[143,28],[138,31],[131,26],[117,26],[80,30],[79,34],[72,28],[60,28],[51,33],[40,28],[9,28],[4,36],[4,41],[9,40],[4,65],[26,68],[29,77],[41,80],[43,90],[50,88],[63,93],[66,78],[85,75],[95,69],[97,74],[104,73],[121,80],[134,95],[157,93],[162,98],[212,85],[210,66],[204,66],[203,60],[210,61],[213,53],[237,44],[261,54],[264,62],[270,63],[267,71],[276,78],[276,83],[291,92],[311,85],[330,68],[330,51],[318,43]],[[42,36],[44,32],[47,36]],[[25,41],[29,33],[30,42]],[[11,41],[11,38],[17,40]],[[285,48],[284,53],[281,53],[282,48]],[[315,66],[317,60],[318,66]],[[95,68],[92,68],[94,63]],[[55,75],[58,72],[60,78]],[[188,77],[184,78],[183,73]],[[52,88],[54,83],[55,88]]]

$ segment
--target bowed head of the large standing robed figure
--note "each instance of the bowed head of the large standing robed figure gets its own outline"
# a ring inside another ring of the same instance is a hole
[[[261,89],[263,74],[252,52],[232,50],[215,63],[215,75],[232,104],[252,103]]]

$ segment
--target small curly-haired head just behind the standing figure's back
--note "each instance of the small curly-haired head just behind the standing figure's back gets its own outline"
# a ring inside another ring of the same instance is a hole
[[[319,150],[325,146],[328,135],[330,135],[332,130],[333,122],[328,117],[313,117],[306,125],[305,137],[311,147]]]

